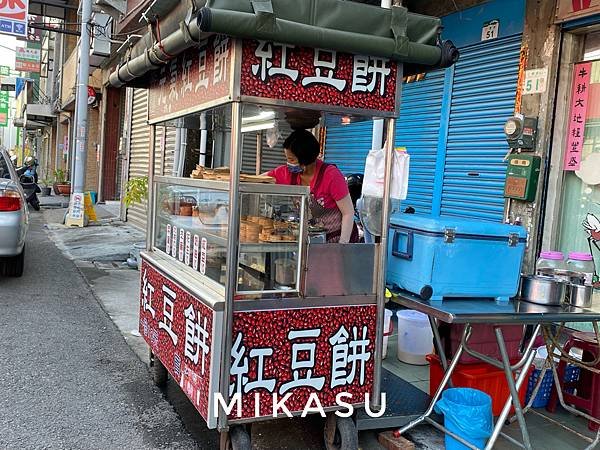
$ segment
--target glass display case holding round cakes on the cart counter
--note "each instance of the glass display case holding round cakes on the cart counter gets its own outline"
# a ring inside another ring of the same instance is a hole
[[[153,250],[224,294],[229,182],[156,177]],[[300,292],[308,188],[240,184],[238,299]]]

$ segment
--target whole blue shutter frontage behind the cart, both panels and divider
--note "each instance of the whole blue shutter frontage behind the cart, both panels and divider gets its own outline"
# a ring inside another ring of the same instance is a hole
[[[503,125],[514,112],[521,35],[461,49],[455,67],[403,84],[396,145],[411,155],[408,198],[417,214],[497,222],[504,210]],[[325,159],[363,172],[371,122],[328,127]]]

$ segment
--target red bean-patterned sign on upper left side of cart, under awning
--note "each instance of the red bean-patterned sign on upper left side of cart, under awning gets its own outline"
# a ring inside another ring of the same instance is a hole
[[[230,95],[232,48],[229,37],[211,36],[164,65],[148,91],[148,120],[180,117]]]

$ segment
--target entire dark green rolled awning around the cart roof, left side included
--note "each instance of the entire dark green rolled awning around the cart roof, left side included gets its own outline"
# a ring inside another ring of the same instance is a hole
[[[380,56],[404,63],[404,75],[449,67],[458,50],[442,41],[441,21],[345,0],[207,0],[161,42],[127,58],[112,86],[147,84],[147,75],[211,34]]]

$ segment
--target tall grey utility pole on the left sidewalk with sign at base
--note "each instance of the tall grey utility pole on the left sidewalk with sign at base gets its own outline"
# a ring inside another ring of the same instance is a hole
[[[67,225],[84,226],[85,169],[88,142],[88,80],[90,76],[90,22],[92,0],[81,0],[81,37],[79,39],[79,66],[77,70],[76,122],[75,122],[75,161],[72,174],[71,201],[67,214]]]

